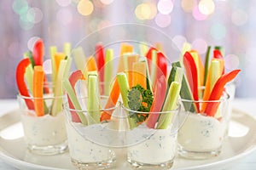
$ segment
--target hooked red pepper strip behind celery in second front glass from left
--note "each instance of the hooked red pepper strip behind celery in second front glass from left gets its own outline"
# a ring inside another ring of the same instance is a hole
[[[78,71],[74,71],[70,77],[69,77],[69,82],[73,88],[73,91],[75,92],[75,84],[76,82],[78,82],[79,80],[84,80],[84,75],[82,73],[82,71],[78,70]],[[68,100],[68,105],[70,107],[70,109],[75,109],[75,107],[73,106],[73,103],[71,101],[71,99],[69,98],[69,96],[67,95],[67,100]],[[79,115],[75,112],[75,111],[71,111],[72,114],[72,121],[73,122],[81,122]]]

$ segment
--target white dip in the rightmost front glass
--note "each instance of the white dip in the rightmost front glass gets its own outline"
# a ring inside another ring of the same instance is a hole
[[[215,117],[189,113],[179,129],[177,141],[188,151],[216,150],[221,147],[225,128],[226,122],[218,121]]]

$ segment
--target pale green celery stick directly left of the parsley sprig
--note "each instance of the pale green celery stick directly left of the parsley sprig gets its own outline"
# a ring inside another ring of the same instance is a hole
[[[123,105],[126,108],[129,108],[128,105],[128,91],[129,91],[129,83],[128,83],[128,79],[126,77],[126,74],[124,72],[119,72],[117,74],[117,80],[119,82],[119,88],[120,88],[120,93],[121,93],[121,97],[123,100]],[[136,122],[128,115],[128,122],[129,122],[129,126],[130,128],[134,128],[137,127]]]

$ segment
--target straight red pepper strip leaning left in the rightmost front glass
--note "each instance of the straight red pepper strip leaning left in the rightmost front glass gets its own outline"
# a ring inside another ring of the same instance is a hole
[[[183,56],[183,65],[187,74],[189,86],[193,94],[195,101],[198,101],[198,77],[197,77],[197,68],[195,65],[195,60],[189,52],[186,52]],[[200,111],[199,103],[195,103],[197,111]]]

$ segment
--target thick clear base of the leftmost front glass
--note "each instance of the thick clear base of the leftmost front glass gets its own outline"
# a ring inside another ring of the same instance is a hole
[[[55,145],[45,145],[37,146],[32,144],[27,144],[27,149],[32,153],[43,155],[43,156],[53,156],[57,154],[64,153],[67,150],[67,140],[61,144]]]

